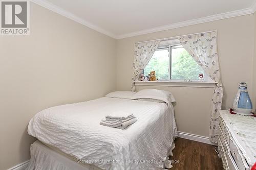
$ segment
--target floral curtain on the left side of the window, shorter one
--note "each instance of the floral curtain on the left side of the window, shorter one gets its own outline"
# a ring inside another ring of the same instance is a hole
[[[160,41],[149,41],[135,44],[134,61],[133,61],[133,76],[132,76],[132,91],[135,91],[135,83],[142,70],[150,61],[151,57],[158,48]]]

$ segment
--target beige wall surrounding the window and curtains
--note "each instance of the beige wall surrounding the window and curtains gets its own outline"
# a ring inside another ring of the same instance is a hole
[[[232,107],[238,83],[248,83],[252,92],[254,15],[228,18],[198,25],[171,29],[117,41],[117,90],[131,89],[134,43],[190,33],[218,31],[218,52],[221,80],[224,86],[223,109]],[[137,87],[137,90],[147,87]],[[152,87],[172,91],[177,98],[175,106],[178,131],[208,136],[212,89],[187,87]]]

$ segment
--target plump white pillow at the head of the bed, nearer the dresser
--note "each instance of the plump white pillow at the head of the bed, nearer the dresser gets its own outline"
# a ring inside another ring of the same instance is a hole
[[[172,102],[176,101],[171,92],[164,91],[164,90],[157,90],[157,89],[143,89],[143,90],[140,90],[136,94],[133,95],[132,99],[160,100],[160,101],[164,101],[165,103],[167,103],[168,106],[170,106],[170,104]]]

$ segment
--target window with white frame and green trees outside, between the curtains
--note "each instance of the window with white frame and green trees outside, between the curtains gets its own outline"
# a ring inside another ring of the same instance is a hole
[[[160,43],[158,50],[144,68],[144,75],[156,71],[158,80],[208,81],[203,69],[187,53],[178,40]]]

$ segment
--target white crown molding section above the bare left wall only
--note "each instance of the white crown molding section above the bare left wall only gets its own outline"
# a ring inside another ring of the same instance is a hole
[[[102,28],[100,28],[98,26],[95,26],[92,23],[90,23],[90,22],[88,22],[88,21],[86,21],[86,20],[84,20],[84,19],[74,15],[73,13],[71,13],[71,12],[65,10],[65,9],[62,9],[62,8],[56,6],[56,5],[54,5],[54,4],[52,4],[52,3],[48,2],[48,1],[45,1],[45,0],[30,0],[30,2],[33,2],[33,3],[35,3],[35,4],[39,5],[39,6],[45,7],[45,8],[47,8],[47,9],[53,11],[53,12],[56,12],[56,13],[58,13],[58,14],[60,14],[62,16],[65,16],[65,17],[67,17],[67,18],[69,18],[71,20],[74,20],[74,21],[76,21],[78,23],[81,23],[81,25],[84,25],[86,27],[89,27],[89,28],[97,31],[97,32],[100,32],[100,33],[102,33],[104,35],[107,35],[107,36],[110,36],[110,37],[116,39],[116,36],[113,33],[108,32],[108,31],[106,31],[106,30],[104,30],[104,29],[102,29]]]

